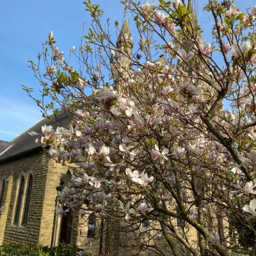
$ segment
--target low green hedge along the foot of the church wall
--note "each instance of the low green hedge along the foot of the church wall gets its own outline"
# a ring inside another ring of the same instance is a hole
[[[90,253],[71,244],[60,244],[49,248],[38,244],[12,244],[7,243],[0,246],[0,256],[90,256]]]

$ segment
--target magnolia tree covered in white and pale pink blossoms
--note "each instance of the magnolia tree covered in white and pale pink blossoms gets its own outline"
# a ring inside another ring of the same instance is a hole
[[[204,40],[190,2],[125,0],[136,26],[131,35],[125,21],[116,45],[103,11],[85,4],[93,22],[70,51],[77,70],[51,32],[30,61],[42,99],[24,87],[47,118],[70,115],[67,127],[31,132],[74,166],[62,204],[113,221],[115,250],[255,255],[256,6],[209,0]]]

